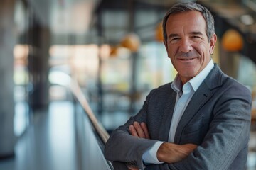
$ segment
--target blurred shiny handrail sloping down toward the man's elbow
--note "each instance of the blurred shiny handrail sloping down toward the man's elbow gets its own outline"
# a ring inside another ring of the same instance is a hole
[[[71,82],[71,85],[70,85],[70,89],[73,92],[74,96],[78,99],[82,108],[85,110],[85,113],[87,113],[96,132],[100,135],[102,141],[104,143],[106,143],[107,139],[110,137],[110,135],[105,130],[105,128],[102,127],[102,125],[98,122],[97,118],[95,117],[95,114],[93,113],[92,109],[90,108],[90,105],[89,105],[87,99],[85,98],[85,95],[82,93],[82,90],[80,89],[80,86],[78,85],[78,81],[73,79],[73,81]]]

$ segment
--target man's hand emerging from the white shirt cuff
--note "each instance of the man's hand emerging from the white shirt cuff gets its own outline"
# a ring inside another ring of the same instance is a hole
[[[157,150],[157,159],[160,162],[174,163],[188,157],[188,154],[193,152],[198,147],[194,144],[176,145],[174,143],[165,142]]]

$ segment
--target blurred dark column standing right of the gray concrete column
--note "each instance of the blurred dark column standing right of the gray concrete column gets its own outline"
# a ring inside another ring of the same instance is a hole
[[[28,30],[29,79],[33,88],[29,92],[28,101],[33,110],[46,108],[49,103],[48,59],[50,46],[50,30],[43,26],[33,11],[30,12],[30,28]]]

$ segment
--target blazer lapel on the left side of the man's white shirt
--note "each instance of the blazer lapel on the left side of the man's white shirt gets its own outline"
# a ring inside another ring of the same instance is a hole
[[[168,141],[171,118],[174,113],[175,103],[176,103],[176,92],[172,90],[171,95],[168,98],[168,102],[166,103],[166,107],[164,109],[164,115],[160,125],[159,140],[161,141],[166,141],[166,142]]]

